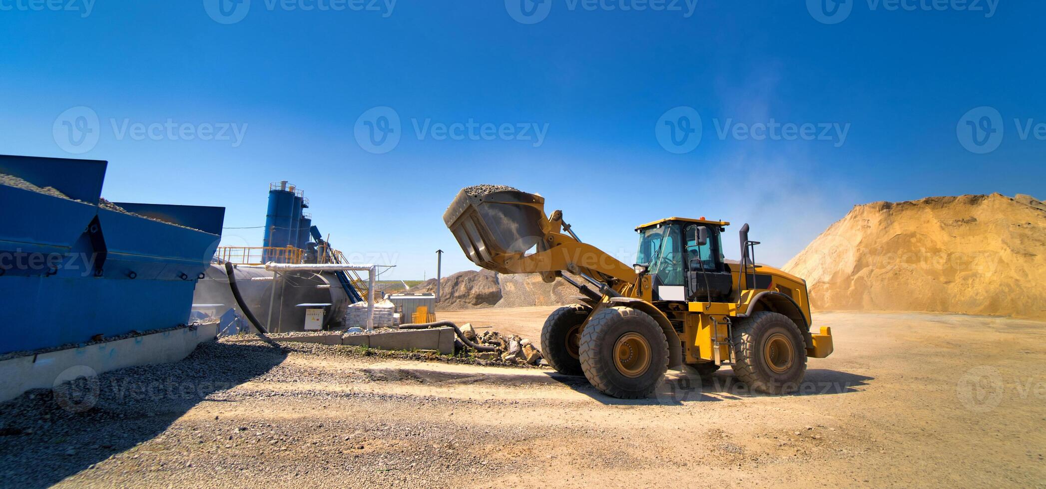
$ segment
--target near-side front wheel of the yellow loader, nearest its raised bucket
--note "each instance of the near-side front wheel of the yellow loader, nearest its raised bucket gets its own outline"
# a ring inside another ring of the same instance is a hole
[[[622,341],[645,345],[646,360],[634,375],[618,367],[615,350]],[[608,307],[589,319],[582,331],[582,369],[599,392],[620,399],[640,399],[654,393],[668,370],[668,341],[650,315],[631,307]]]

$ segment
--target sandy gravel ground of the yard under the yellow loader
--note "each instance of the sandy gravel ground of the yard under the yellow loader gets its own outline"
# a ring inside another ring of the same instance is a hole
[[[537,341],[549,310],[440,319]],[[703,385],[670,372],[657,396],[623,401],[549,370],[219,343],[207,353],[228,369],[195,354],[126,375],[231,383],[200,398],[0,404],[0,486],[1046,486],[1046,324],[815,322],[836,352],[788,396],[749,393],[728,369]]]

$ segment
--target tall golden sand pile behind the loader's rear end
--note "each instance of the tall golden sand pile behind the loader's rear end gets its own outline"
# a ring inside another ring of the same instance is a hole
[[[783,270],[815,309],[1046,319],[1046,205],[993,193],[856,206]]]

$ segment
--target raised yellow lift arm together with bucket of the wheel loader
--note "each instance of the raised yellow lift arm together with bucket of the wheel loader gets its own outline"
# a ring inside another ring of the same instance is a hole
[[[565,234],[563,213],[545,214],[545,199],[518,190],[458,192],[444,213],[469,259],[502,274],[540,273],[552,282],[562,272],[606,284],[600,294],[635,297],[632,266]],[[569,226],[566,226],[569,233]],[[527,254],[528,252],[532,252]]]

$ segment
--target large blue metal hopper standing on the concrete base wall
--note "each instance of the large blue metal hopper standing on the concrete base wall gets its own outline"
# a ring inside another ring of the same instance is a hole
[[[188,321],[225,209],[99,206],[106,166],[0,156],[0,173],[43,188],[0,185],[0,354]]]

